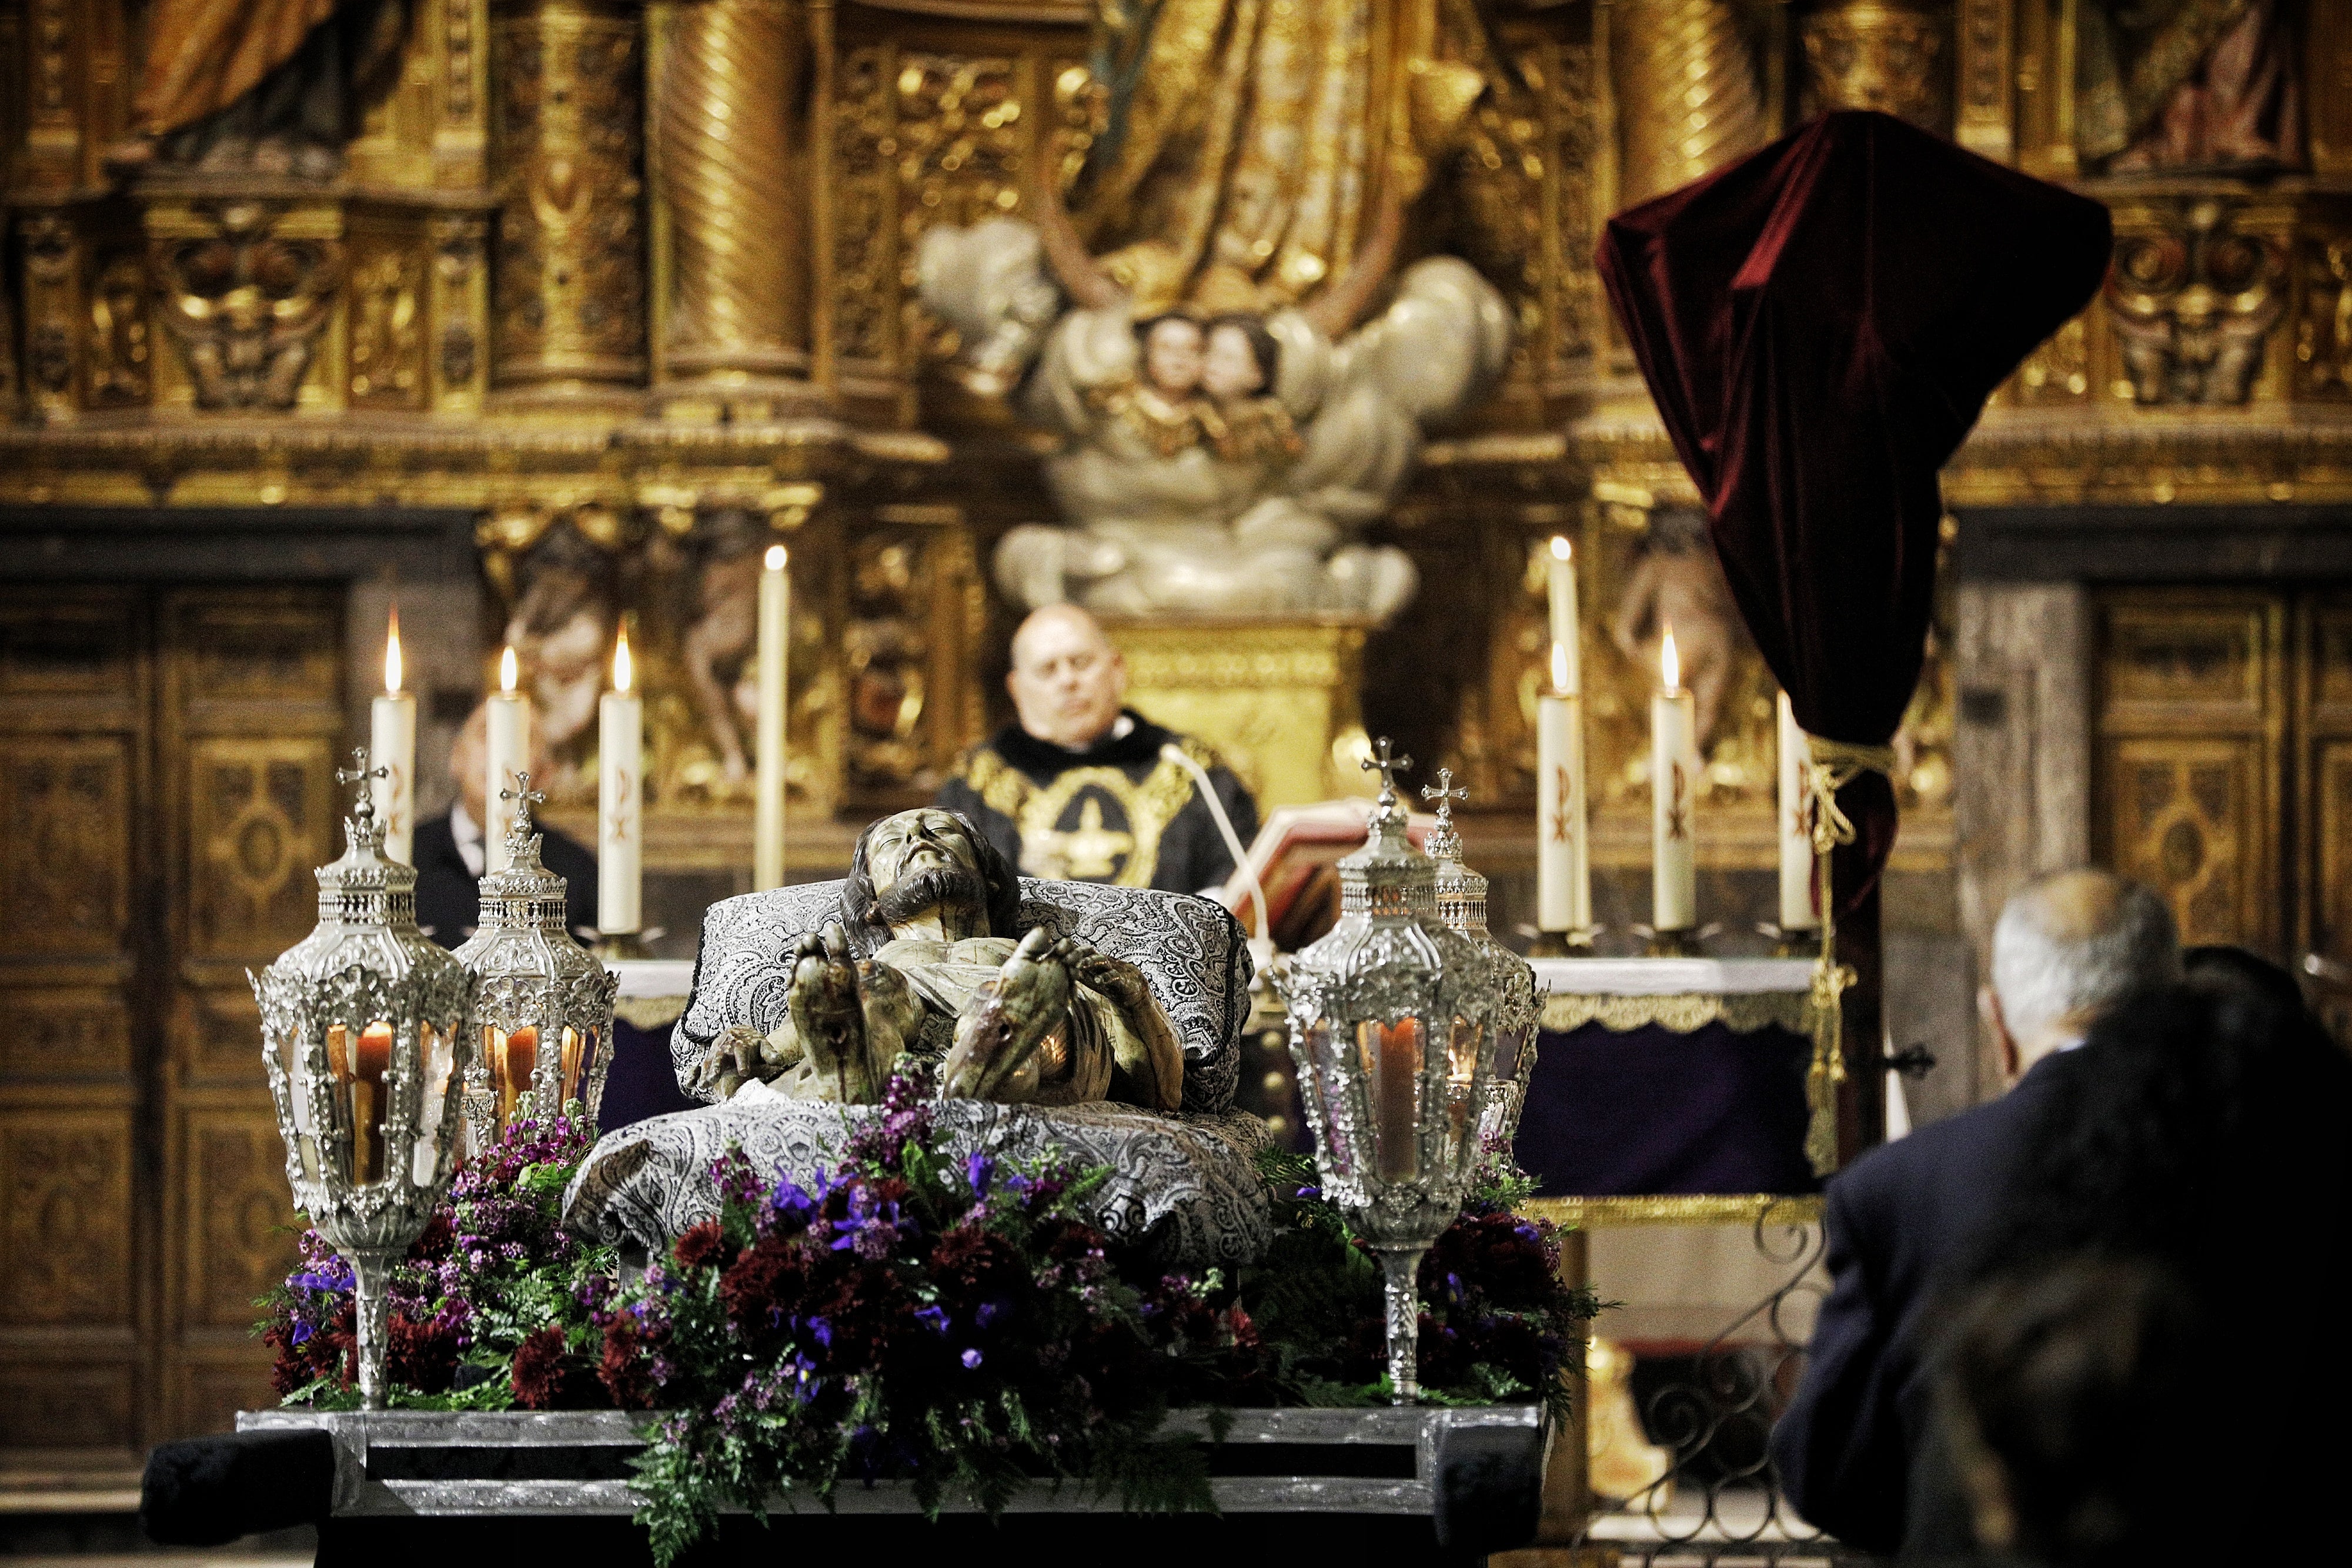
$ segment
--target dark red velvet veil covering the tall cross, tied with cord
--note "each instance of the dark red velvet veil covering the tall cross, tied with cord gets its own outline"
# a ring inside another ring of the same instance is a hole
[[[1602,280],[1724,578],[1797,724],[1884,745],[1919,684],[1936,473],[2018,362],[2089,303],[2089,197],[1891,115],[1835,113],[1609,221]],[[1867,893],[1893,788],[1839,795]]]

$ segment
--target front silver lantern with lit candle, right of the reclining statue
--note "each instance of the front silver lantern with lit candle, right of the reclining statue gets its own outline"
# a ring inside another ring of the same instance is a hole
[[[1381,741],[1381,802],[1364,849],[1338,863],[1338,926],[1279,976],[1298,1093],[1324,1194],[1381,1253],[1388,1380],[1416,1375],[1421,1255],[1461,1213],[1494,1074],[1498,997],[1479,947],[1437,922],[1437,865],[1404,837],[1399,769]]]

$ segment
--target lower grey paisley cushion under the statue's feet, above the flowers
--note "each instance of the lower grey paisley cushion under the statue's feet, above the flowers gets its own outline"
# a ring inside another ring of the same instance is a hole
[[[564,1194],[564,1227],[579,1237],[663,1251],[689,1225],[717,1213],[710,1164],[729,1143],[753,1168],[809,1182],[840,1164],[856,1119],[877,1105],[786,1100],[746,1093],[727,1105],[675,1112],[604,1135]],[[1270,1211],[1256,1152],[1265,1124],[1249,1112],[1202,1117],[1134,1105],[995,1105],[941,1100],[934,1110],[948,1150],[997,1159],[1063,1154],[1110,1166],[1091,1199],[1094,1220],[1115,1239],[1141,1244],[1171,1267],[1247,1262],[1265,1251]]]

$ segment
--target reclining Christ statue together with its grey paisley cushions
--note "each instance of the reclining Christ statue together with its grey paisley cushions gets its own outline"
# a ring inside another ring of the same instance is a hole
[[[922,1063],[955,1152],[1110,1166],[1096,1222],[1171,1262],[1256,1255],[1256,1152],[1232,1110],[1249,947],[1232,917],[1155,889],[1016,877],[964,818],[901,811],[851,875],[729,898],[703,922],[673,1032],[701,1110],[604,1135],[564,1222],[663,1251],[717,1213],[729,1143],[814,1180],[891,1114],[891,1070]]]

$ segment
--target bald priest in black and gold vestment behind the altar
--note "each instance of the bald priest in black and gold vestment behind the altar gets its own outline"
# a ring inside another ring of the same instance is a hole
[[[1249,846],[1258,804],[1207,745],[1131,708],[1127,661],[1094,616],[1047,604],[1014,632],[1004,677],[1016,722],[957,764],[938,806],[960,811],[1030,877],[1211,893],[1232,875],[1192,769],[1207,771],[1232,832]]]

